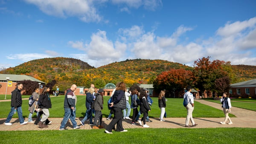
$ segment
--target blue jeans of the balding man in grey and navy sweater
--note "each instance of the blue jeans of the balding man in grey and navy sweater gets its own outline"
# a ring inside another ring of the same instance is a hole
[[[74,107],[76,108],[76,107]],[[73,124],[73,127],[76,127],[77,124],[76,124],[76,112],[73,111],[73,109],[71,108],[64,108],[65,109],[65,114],[64,114],[64,118],[61,122],[61,127],[60,129],[64,129],[65,128],[65,125],[67,124],[67,121],[68,119],[70,118],[70,121],[72,122]]]

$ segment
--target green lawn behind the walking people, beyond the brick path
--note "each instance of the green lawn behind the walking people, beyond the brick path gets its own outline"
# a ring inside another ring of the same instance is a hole
[[[102,110],[103,117],[107,117],[109,115],[110,110],[107,107],[107,101],[109,96],[104,96],[104,109]],[[159,118],[160,109],[158,107],[158,99],[152,98],[154,103],[151,106],[151,111],[148,112],[149,117],[151,118]],[[183,107],[183,99],[182,98],[167,98],[166,101],[166,113],[168,118],[185,118],[186,117],[186,108]],[[64,95],[58,97],[51,97],[52,108],[49,109],[51,118],[62,118],[64,116]],[[0,102],[0,118],[6,118],[10,111],[10,101]],[[23,116],[25,118],[28,117],[28,100],[23,100],[22,110]],[[207,110],[206,110],[207,109]],[[77,96],[77,104],[76,104],[76,117],[84,117],[86,111],[85,107],[85,96],[78,95]],[[132,111],[131,114],[132,115]],[[143,115],[141,115],[143,116]],[[33,117],[36,117],[36,114],[33,114]],[[195,109],[193,112],[193,117],[195,118],[222,118],[224,117],[223,112],[219,109],[215,109],[213,107],[209,107],[207,105],[201,104],[195,101]],[[230,117],[235,117],[230,114]],[[18,118],[17,114],[13,115],[13,118]]]

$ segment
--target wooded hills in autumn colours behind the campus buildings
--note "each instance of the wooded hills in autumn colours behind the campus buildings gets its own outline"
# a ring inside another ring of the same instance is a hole
[[[236,80],[233,83],[256,78],[256,66],[233,65]],[[103,87],[124,81],[127,86],[134,83],[152,84],[158,74],[169,69],[193,70],[193,67],[167,60],[125,60],[94,68],[74,58],[43,58],[31,60],[19,66],[0,71],[2,74],[29,75],[48,83],[55,79],[61,89],[72,84],[89,87],[91,83]],[[53,89],[54,90],[54,89]]]

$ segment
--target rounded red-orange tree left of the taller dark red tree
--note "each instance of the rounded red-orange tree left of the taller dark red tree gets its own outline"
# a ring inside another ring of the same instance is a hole
[[[185,69],[171,69],[157,75],[153,81],[154,90],[166,89],[167,91],[181,92],[187,85],[192,85],[194,82],[193,73]]]

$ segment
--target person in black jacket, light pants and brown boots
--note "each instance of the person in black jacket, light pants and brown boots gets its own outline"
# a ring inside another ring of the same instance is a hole
[[[43,89],[42,94],[40,95],[38,99],[38,108],[41,108],[43,111],[43,116],[41,120],[38,122],[38,126],[40,128],[48,127],[45,122],[47,121],[47,118],[49,117],[49,108],[52,108],[51,98],[49,95],[50,87],[45,86]]]

